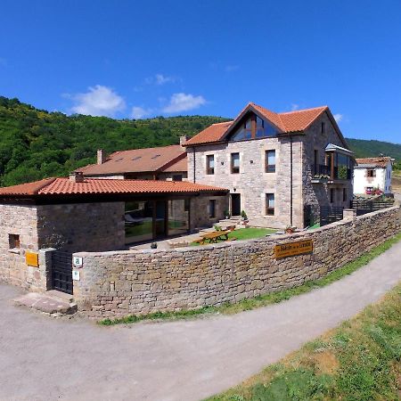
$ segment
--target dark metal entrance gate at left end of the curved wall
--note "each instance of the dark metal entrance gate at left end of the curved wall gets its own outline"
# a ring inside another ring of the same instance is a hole
[[[72,295],[72,253],[52,252],[52,287]]]

